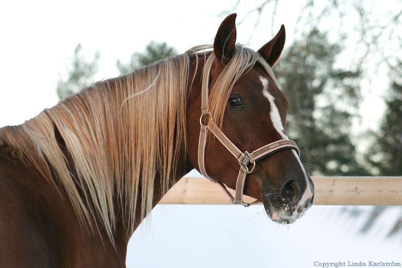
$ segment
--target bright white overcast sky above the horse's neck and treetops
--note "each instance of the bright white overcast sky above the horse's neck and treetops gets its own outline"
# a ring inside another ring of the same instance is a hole
[[[253,1],[249,1],[251,3]],[[100,52],[96,79],[118,75],[116,60],[126,62],[151,40],[165,41],[180,53],[195,45],[212,43],[232,1],[8,1],[0,9],[0,126],[22,123],[57,103],[55,87],[65,74],[77,43],[87,58]],[[229,3],[229,4],[228,4]],[[214,8],[211,8],[214,7]],[[294,24],[295,18],[278,20]],[[248,42],[252,21],[238,29],[238,42]],[[272,37],[267,27],[252,40],[258,49]],[[291,34],[288,34],[291,38]]]

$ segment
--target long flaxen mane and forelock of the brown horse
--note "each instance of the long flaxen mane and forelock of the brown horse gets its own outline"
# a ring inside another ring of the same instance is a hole
[[[22,125],[1,128],[0,139],[65,191],[83,226],[94,230],[100,223],[114,241],[118,217],[132,233],[136,211],[141,220],[151,211],[157,176],[162,193],[175,181],[176,163],[187,155],[187,83],[195,77],[188,78],[190,62],[197,68],[211,48],[195,47],[99,81]],[[234,83],[257,60],[256,52],[236,45],[211,90],[218,124]]]

